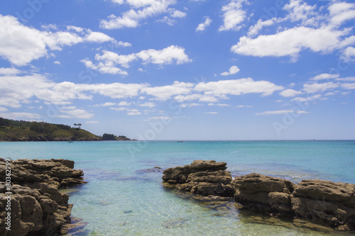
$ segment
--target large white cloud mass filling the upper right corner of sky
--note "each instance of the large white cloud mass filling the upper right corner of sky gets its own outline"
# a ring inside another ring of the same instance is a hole
[[[328,9],[317,9],[302,0],[290,0],[283,7],[287,12],[284,18],[271,18],[266,21],[259,19],[249,28],[246,36],[239,38],[239,42],[231,47],[231,51],[239,55],[255,57],[291,57],[295,62],[302,50],[330,53],[334,50],[342,52],[343,60],[354,60],[355,50],[351,47],[355,37],[351,35],[351,28],[341,28],[346,21],[355,18],[355,4],[332,3]],[[324,13],[322,11],[329,11]],[[297,22],[293,28],[277,28],[276,33],[258,35],[266,26],[284,21]],[[258,35],[253,38],[254,35]],[[346,48],[346,49],[344,49]]]

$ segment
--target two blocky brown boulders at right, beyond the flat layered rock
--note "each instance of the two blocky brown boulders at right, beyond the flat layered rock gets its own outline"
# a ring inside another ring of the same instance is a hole
[[[232,181],[235,200],[261,213],[307,220],[337,230],[355,230],[355,184],[303,180],[293,184],[261,174]]]

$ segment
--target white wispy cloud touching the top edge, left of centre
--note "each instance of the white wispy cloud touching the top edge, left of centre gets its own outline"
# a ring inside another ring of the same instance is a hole
[[[115,1],[123,4],[123,1]],[[106,29],[136,28],[140,21],[148,17],[168,12],[168,6],[175,4],[175,0],[127,0],[126,4],[131,6],[122,16],[111,15],[108,20],[100,21],[100,27]],[[139,9],[136,11],[136,9]]]

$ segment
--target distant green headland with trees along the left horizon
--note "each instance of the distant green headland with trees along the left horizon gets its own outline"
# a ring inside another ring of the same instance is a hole
[[[81,124],[59,125],[45,122],[10,120],[0,117],[0,141],[101,141],[131,140],[123,135],[94,135]]]

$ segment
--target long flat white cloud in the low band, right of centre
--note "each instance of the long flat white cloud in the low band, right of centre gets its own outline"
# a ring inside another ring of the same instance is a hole
[[[268,96],[274,91],[283,89],[267,81],[254,81],[251,78],[220,80],[218,82],[199,83],[195,86],[196,91],[210,91],[214,96],[241,95],[241,94],[262,94]]]

